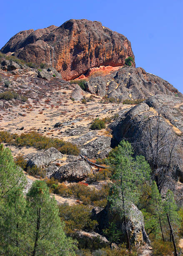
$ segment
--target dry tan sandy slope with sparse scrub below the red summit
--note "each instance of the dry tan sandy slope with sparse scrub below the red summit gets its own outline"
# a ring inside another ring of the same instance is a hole
[[[113,117],[119,110],[131,108],[131,105],[122,103],[100,103],[102,98],[96,95],[86,104],[82,104],[81,100],[73,102],[70,98],[75,89],[74,85],[55,78],[50,82],[40,79],[33,69],[21,75],[1,71],[0,76],[1,91],[4,90],[3,82],[8,79],[11,83],[9,90],[28,97],[26,102],[2,101],[4,108],[0,110],[0,130],[10,133],[37,131],[45,136],[74,142],[74,139],[91,131],[90,123],[93,119]],[[86,99],[91,96],[88,92],[83,94]],[[60,127],[54,128],[58,122],[61,123]],[[20,130],[22,127],[23,130]],[[96,138],[101,135],[111,136],[107,128],[95,133]],[[10,146],[10,149],[14,156],[18,153],[29,154],[37,151],[35,148],[15,146]]]

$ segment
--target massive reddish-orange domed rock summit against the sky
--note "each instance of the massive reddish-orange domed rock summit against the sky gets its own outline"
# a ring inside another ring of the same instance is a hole
[[[135,67],[130,41],[98,21],[72,19],[60,27],[20,33],[1,51],[14,52],[28,62],[48,63],[66,80],[85,75],[94,67],[123,66],[128,56],[132,56]]]

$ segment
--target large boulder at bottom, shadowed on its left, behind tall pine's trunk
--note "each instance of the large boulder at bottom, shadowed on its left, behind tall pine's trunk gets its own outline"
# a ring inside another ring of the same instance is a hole
[[[140,247],[143,245],[144,242],[150,243],[150,240],[144,228],[143,214],[133,203],[128,203],[128,210],[126,210],[125,217],[126,228],[128,231],[131,245]],[[116,225],[116,228],[122,232],[120,242],[126,242],[122,209],[120,209],[120,207],[118,207],[118,210],[114,210],[108,202],[108,205],[98,213],[95,213],[94,208],[92,218],[98,221],[99,232],[102,232],[103,229],[108,228],[109,223],[113,222]]]

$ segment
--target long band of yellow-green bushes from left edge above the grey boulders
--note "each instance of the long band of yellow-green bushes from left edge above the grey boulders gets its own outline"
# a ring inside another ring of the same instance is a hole
[[[38,149],[57,148],[62,154],[78,155],[79,148],[70,142],[60,139],[49,138],[35,131],[29,133],[11,134],[6,131],[0,131],[0,142],[9,143],[10,145],[29,146]]]

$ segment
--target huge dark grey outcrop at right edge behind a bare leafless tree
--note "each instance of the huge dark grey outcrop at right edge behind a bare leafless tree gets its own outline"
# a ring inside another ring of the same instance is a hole
[[[123,138],[130,141],[155,170],[159,189],[165,185],[173,190],[173,180],[183,181],[183,98],[152,96],[119,115],[110,125],[112,145]]]

